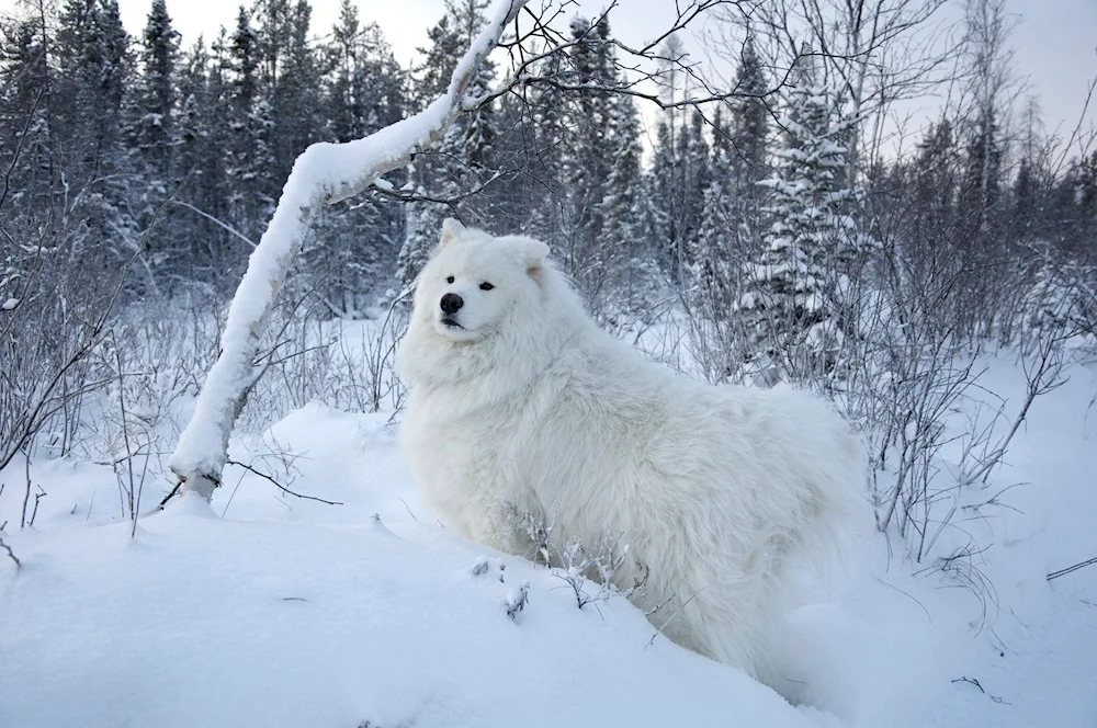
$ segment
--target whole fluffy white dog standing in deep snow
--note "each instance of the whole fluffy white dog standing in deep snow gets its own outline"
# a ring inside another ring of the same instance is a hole
[[[501,550],[531,555],[524,514],[552,521],[557,547],[620,535],[614,581],[646,571],[633,601],[653,624],[767,671],[790,562],[829,541],[862,482],[857,440],[807,394],[645,360],[595,325],[547,253],[444,223],[398,354],[416,478],[446,526]]]

